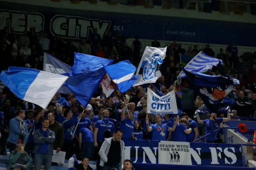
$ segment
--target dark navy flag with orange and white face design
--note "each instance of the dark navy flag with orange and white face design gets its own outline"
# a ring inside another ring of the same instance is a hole
[[[226,109],[224,98],[240,84],[237,79],[219,75],[206,75],[182,68],[210,113],[221,113]]]

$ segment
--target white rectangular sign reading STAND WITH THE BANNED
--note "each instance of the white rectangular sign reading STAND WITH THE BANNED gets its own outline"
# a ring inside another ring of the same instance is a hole
[[[160,141],[158,164],[192,165],[190,143]]]

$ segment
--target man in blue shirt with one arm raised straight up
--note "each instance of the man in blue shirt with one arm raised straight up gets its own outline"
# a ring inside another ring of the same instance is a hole
[[[127,102],[125,101],[124,105],[126,105],[126,104],[127,104]],[[137,140],[137,138],[134,138],[134,134],[133,134],[133,131],[134,131],[134,123],[132,121],[133,112],[129,110],[127,113],[127,117],[126,117],[125,111],[126,111],[126,108],[123,107],[122,113],[121,113],[121,125],[120,125],[120,130],[122,130],[122,132],[124,132],[122,139],[132,138],[134,140]]]

